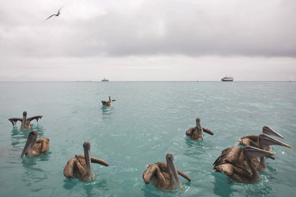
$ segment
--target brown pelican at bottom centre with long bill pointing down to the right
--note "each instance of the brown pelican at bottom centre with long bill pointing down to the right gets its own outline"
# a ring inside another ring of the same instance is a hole
[[[175,179],[180,191],[183,192],[182,183],[178,174],[188,181],[191,181],[186,173],[176,169],[174,157],[171,153],[166,154],[166,162],[153,163],[152,165],[146,166],[146,168],[147,169],[143,172],[145,184],[152,182],[152,184],[160,190],[176,189]]]

